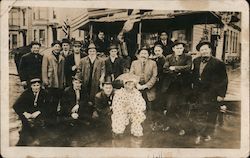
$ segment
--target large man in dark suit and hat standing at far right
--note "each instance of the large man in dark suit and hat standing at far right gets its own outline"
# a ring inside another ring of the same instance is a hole
[[[193,84],[196,97],[196,106],[193,109],[194,123],[196,124],[197,138],[211,140],[215,129],[219,102],[224,100],[227,91],[228,77],[225,64],[212,56],[212,44],[201,40],[196,46],[200,57],[194,59]]]

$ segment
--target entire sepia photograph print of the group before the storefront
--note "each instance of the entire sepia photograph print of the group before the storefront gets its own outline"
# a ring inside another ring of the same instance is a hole
[[[249,145],[242,144],[249,139],[242,135],[249,131],[242,119],[249,117],[242,104],[242,75],[249,73],[248,65],[242,69],[249,50],[242,47],[242,30],[249,30],[242,10],[92,4],[22,3],[4,13],[8,104],[1,106],[10,149]]]

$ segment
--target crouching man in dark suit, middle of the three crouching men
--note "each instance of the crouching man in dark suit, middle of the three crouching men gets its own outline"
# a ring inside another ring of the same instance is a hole
[[[86,98],[82,91],[82,80],[78,75],[72,77],[72,86],[65,88],[61,99],[61,114],[71,125],[79,119],[87,119]],[[75,120],[75,121],[73,121]]]

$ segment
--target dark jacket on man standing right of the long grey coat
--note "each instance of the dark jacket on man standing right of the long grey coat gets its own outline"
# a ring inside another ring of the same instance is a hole
[[[120,57],[116,58],[112,67],[110,57],[105,60],[105,77],[114,75],[114,79],[123,74],[124,60]]]

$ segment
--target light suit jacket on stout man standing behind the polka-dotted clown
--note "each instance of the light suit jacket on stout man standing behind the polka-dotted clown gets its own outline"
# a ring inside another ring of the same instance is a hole
[[[142,74],[142,63],[140,60],[135,60],[131,64],[130,73],[141,76]],[[153,60],[148,59],[145,64],[145,84],[148,86],[146,94],[149,101],[153,101],[156,98],[155,82],[157,79],[157,65]]]

